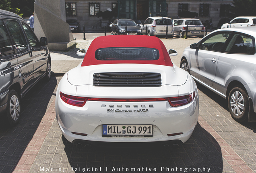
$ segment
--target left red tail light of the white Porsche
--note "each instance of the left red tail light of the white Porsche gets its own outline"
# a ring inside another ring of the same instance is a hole
[[[65,103],[72,105],[72,106],[77,106],[77,107],[85,106],[85,103],[88,99],[87,97],[76,97],[76,96],[66,95],[62,92],[60,92],[60,98]]]

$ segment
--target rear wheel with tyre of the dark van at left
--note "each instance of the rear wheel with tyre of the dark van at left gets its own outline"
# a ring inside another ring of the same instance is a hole
[[[10,90],[6,108],[6,119],[10,126],[15,126],[20,121],[20,98],[15,90]]]

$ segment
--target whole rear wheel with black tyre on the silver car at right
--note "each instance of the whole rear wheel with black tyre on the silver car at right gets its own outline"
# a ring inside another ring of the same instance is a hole
[[[249,98],[247,93],[240,86],[236,86],[229,92],[228,97],[229,113],[237,122],[248,120]]]

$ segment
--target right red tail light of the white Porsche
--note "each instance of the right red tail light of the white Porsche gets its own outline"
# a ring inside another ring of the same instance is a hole
[[[170,97],[168,98],[168,102],[171,107],[178,107],[186,105],[194,100],[195,92],[190,95],[180,96],[180,97]]]

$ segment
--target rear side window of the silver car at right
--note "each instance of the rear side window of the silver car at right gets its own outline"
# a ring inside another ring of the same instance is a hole
[[[253,36],[235,33],[225,52],[238,54],[255,54],[255,39]]]

